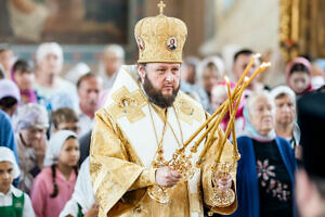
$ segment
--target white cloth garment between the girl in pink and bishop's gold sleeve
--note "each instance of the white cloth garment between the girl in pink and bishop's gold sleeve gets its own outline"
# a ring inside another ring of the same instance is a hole
[[[90,178],[90,162],[89,157],[87,157],[81,164],[80,171],[78,174],[77,182],[75,186],[75,191],[73,194],[73,199],[80,204],[83,212],[87,212],[91,208],[91,206],[96,202],[91,184]]]

